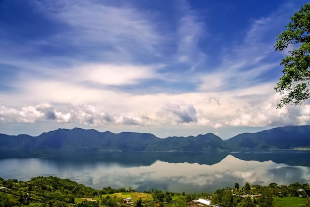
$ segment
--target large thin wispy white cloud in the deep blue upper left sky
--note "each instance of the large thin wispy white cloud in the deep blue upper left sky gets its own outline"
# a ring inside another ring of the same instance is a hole
[[[111,62],[135,58],[132,53],[157,54],[161,37],[151,22],[155,15],[127,3],[92,0],[39,2],[49,18],[67,25],[52,42],[65,42],[77,50],[92,48],[93,55]],[[92,53],[92,52],[91,52]],[[156,55],[155,55],[156,56]],[[81,57],[83,59],[83,57]]]

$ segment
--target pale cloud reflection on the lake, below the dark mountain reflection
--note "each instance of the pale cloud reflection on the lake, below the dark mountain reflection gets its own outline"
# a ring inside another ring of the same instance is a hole
[[[3,167],[5,166],[5,167]],[[22,169],[18,170],[18,169]],[[2,159],[0,175],[4,179],[27,181],[39,175],[69,178],[96,189],[133,187],[137,191],[161,189],[172,192],[214,192],[233,187],[236,182],[268,185],[272,182],[310,183],[310,167],[277,164],[272,161],[245,161],[227,155],[216,164],[169,163],[155,161],[148,166],[126,166],[103,161],[59,164],[54,160]]]

